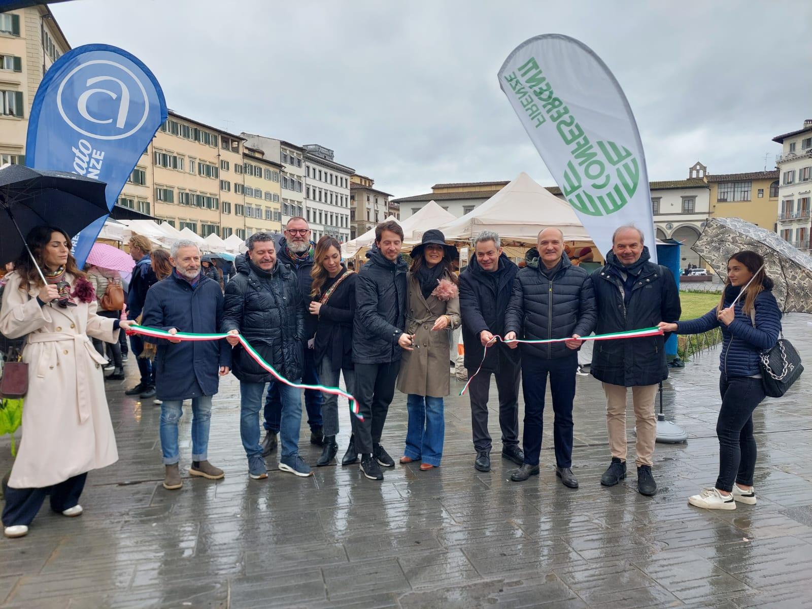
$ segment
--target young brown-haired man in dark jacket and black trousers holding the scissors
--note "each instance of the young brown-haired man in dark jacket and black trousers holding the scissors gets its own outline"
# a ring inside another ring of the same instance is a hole
[[[408,291],[406,262],[400,257],[404,231],[394,220],[375,227],[375,244],[356,280],[356,315],[352,325],[352,361],[356,370],[355,398],[364,421],[352,421],[353,437],[342,464],[361,453],[361,472],[383,480],[380,466],[395,467],[383,450],[381,434],[395,395],[403,349],[412,349],[404,332]]]

